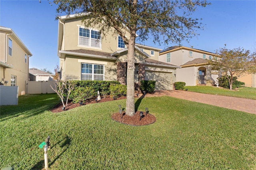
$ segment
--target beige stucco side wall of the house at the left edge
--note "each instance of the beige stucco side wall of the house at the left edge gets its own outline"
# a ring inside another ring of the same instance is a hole
[[[5,40],[6,34],[1,32],[1,61],[5,62]],[[18,95],[25,94],[25,81],[28,80],[28,53],[17,43],[16,39],[12,35],[7,36],[12,40],[12,56],[8,54],[7,50],[7,64],[13,65],[13,68],[1,68],[0,80],[8,81],[7,86],[11,84],[11,75],[16,76],[16,86],[18,86]],[[2,39],[3,38],[3,39]],[[3,47],[3,48],[2,48]],[[25,54],[27,55],[27,62],[25,63]]]

